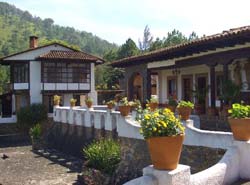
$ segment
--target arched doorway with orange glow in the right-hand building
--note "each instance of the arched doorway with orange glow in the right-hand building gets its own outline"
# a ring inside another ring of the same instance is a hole
[[[143,78],[140,73],[134,73],[129,80],[129,99],[143,101]]]

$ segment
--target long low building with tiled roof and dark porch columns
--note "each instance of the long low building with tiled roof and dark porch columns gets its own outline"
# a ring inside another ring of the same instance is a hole
[[[129,99],[146,102],[157,95],[197,101],[195,88],[209,87],[206,108],[220,107],[224,80],[241,86],[240,98],[250,103],[250,26],[234,28],[180,45],[162,48],[112,63],[125,69],[121,87]]]

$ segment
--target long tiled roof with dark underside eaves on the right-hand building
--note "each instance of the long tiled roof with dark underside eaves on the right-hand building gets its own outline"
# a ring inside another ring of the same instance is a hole
[[[152,62],[156,58],[158,60],[166,60],[180,56],[191,55],[208,49],[215,49],[218,47],[226,47],[228,45],[235,45],[241,42],[250,42],[250,26],[233,28],[223,31],[219,34],[204,36],[197,40],[182,43],[176,46],[158,49],[152,52],[147,52],[141,55],[123,58],[111,63],[112,66],[124,66],[138,64],[138,62]]]

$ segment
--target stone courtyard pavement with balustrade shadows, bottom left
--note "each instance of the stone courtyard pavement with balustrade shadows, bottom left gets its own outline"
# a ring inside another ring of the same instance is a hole
[[[3,154],[8,158],[3,159]],[[31,146],[0,148],[0,185],[77,185],[81,166],[81,160],[55,150],[33,153]]]

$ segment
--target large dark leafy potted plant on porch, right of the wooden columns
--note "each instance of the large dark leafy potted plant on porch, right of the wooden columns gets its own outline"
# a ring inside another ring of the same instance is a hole
[[[222,116],[228,116],[228,110],[231,108],[233,102],[236,102],[240,95],[240,86],[235,84],[232,80],[225,80],[221,87],[220,100],[223,107],[221,111]]]

